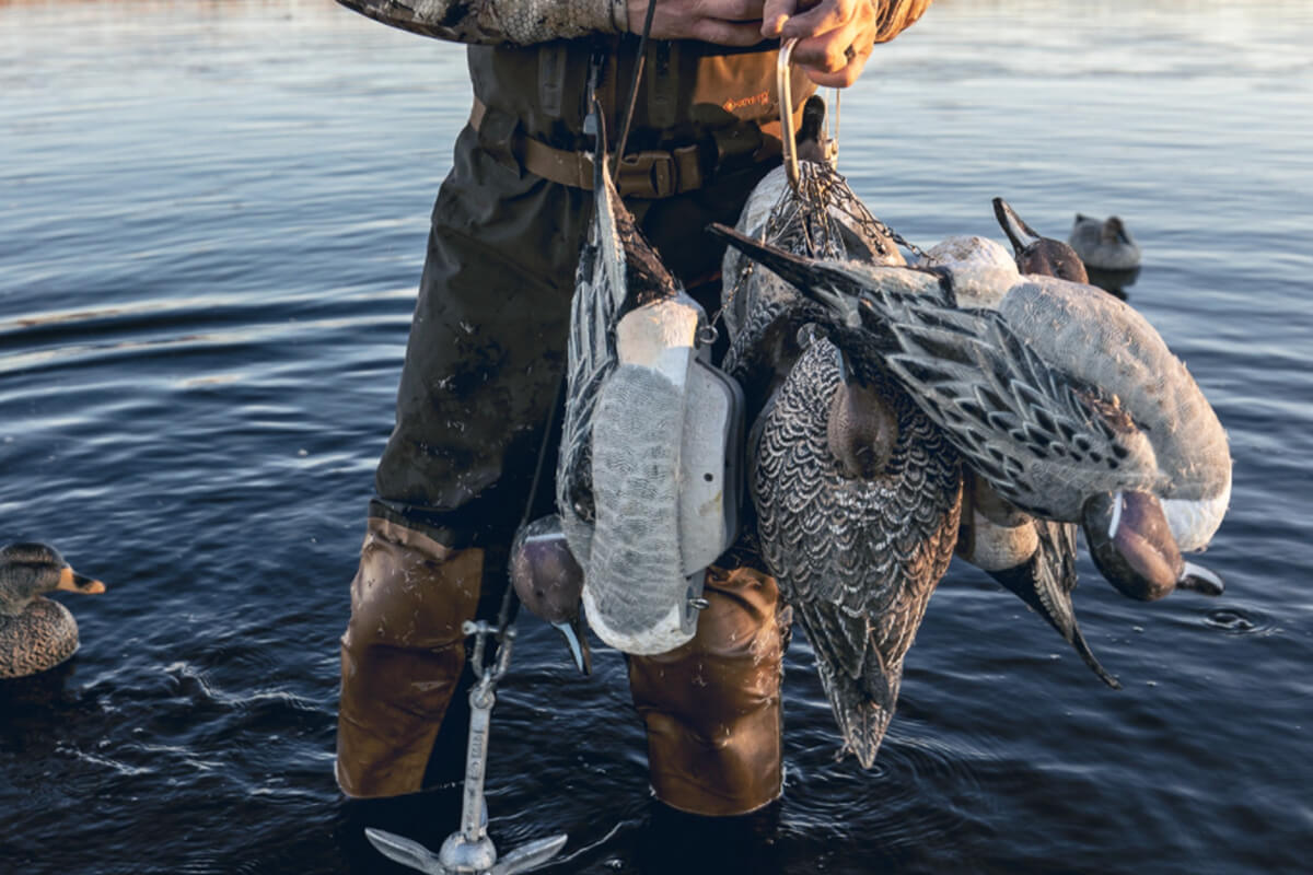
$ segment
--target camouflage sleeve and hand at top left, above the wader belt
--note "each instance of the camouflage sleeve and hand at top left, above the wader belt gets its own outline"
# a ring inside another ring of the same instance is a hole
[[[383,24],[453,42],[528,45],[642,30],[649,0],[337,0]],[[654,39],[760,42],[765,0],[659,0]]]

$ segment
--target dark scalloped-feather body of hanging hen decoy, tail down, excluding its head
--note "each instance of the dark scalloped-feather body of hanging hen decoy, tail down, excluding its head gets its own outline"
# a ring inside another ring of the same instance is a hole
[[[811,644],[844,746],[864,767],[952,558],[961,506],[957,454],[941,432],[888,378],[868,384],[897,420],[874,476],[852,476],[831,449],[831,401],[846,386],[825,338],[789,371],[751,441],[762,555]]]

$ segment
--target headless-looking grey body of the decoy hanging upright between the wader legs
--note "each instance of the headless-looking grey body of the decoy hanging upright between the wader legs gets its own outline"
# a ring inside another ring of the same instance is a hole
[[[567,341],[557,509],[607,644],[664,653],[691,640],[705,568],[738,533],[742,396],[705,359],[706,315],[620,199],[605,131]]]

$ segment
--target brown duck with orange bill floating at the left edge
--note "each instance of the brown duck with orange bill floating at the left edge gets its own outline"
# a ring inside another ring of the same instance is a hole
[[[45,598],[56,589],[102,593],[105,585],[74,572],[47,544],[0,548],[0,678],[45,672],[77,651],[77,621]]]

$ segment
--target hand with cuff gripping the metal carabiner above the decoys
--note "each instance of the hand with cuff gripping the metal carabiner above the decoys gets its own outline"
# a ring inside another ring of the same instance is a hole
[[[798,38],[793,63],[818,85],[857,81],[877,42],[910,28],[931,0],[765,0],[762,35]]]

